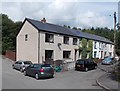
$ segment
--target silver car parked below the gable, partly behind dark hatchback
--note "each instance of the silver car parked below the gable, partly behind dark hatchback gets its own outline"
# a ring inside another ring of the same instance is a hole
[[[21,72],[23,72],[25,70],[26,67],[28,67],[30,64],[32,64],[31,61],[17,61],[15,62],[12,67],[13,69],[17,69],[20,70]]]

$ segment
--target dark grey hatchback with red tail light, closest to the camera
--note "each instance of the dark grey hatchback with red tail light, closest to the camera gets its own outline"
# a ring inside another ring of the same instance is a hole
[[[35,77],[37,80],[39,78],[54,77],[54,69],[50,64],[31,64],[24,70],[24,75],[29,75]]]

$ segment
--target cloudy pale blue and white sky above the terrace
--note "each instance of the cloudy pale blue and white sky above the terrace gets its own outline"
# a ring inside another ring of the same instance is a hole
[[[113,14],[118,14],[119,0],[26,0],[26,2],[4,0],[0,12],[14,21],[25,17],[35,20],[46,18],[47,22],[71,27],[109,27],[113,28]],[[108,2],[109,1],[109,2]]]

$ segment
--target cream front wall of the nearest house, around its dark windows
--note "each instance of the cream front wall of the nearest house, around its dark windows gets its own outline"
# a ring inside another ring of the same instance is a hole
[[[54,34],[54,43],[45,42],[45,32],[40,32],[40,60],[45,61],[45,50],[54,50],[53,60],[63,59],[63,51],[71,51],[70,59],[64,59],[67,62],[74,61],[75,49],[78,45],[73,45],[73,37],[69,36],[69,45],[63,44],[63,35]],[[58,43],[61,43],[61,50],[58,48]],[[79,40],[78,40],[79,44]],[[78,51],[76,59],[78,59]]]

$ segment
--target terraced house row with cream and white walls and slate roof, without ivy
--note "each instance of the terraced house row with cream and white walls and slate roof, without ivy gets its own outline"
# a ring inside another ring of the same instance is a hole
[[[81,58],[82,38],[92,40],[92,52],[89,51],[87,58],[90,53],[93,58],[104,58],[108,54],[113,56],[113,43],[103,37],[46,23],[44,20],[26,18],[17,35],[16,60],[30,60],[33,63],[46,60],[76,61]]]

